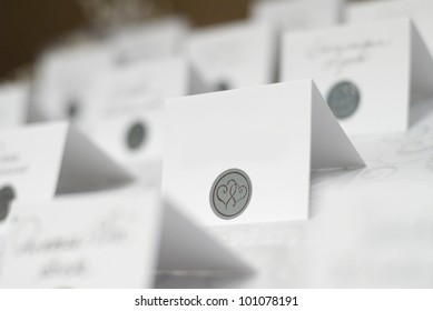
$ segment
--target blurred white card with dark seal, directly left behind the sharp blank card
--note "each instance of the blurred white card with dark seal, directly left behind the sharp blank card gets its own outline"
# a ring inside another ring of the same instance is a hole
[[[185,58],[135,61],[114,67],[86,99],[80,126],[116,160],[161,159],[164,100],[188,93]]]

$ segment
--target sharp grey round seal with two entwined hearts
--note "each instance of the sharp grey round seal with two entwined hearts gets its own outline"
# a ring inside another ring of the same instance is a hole
[[[210,189],[210,207],[222,219],[240,215],[249,204],[253,193],[248,175],[238,169],[230,169],[217,177]]]

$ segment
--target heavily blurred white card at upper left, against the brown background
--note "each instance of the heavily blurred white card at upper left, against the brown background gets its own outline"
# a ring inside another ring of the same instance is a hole
[[[39,120],[80,121],[88,92],[105,76],[111,54],[102,46],[50,50],[37,69],[32,116]]]

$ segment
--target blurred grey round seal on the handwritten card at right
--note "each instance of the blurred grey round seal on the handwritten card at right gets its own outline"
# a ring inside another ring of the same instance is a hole
[[[360,100],[358,89],[350,81],[335,84],[327,96],[327,104],[337,119],[346,119],[355,113]]]

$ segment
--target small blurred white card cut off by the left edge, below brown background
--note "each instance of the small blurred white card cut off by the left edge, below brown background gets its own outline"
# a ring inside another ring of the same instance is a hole
[[[22,126],[27,121],[29,84],[0,86],[0,128]]]

